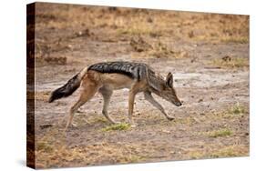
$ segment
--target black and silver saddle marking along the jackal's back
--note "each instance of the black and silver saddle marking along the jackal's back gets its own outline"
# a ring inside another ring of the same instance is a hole
[[[100,73],[118,73],[128,75],[131,78],[142,79],[146,76],[148,65],[132,62],[106,62],[90,65],[87,70],[94,70]]]

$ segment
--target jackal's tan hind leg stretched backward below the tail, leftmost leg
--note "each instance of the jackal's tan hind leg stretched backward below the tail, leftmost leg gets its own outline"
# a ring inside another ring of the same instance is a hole
[[[79,96],[79,99],[77,103],[70,108],[69,111],[69,118],[67,120],[67,125],[65,130],[67,130],[67,127],[71,125],[73,117],[75,113],[77,112],[78,108],[80,106],[83,106],[87,101],[92,98],[97,92],[97,85],[95,84],[85,84],[83,85],[83,89],[81,90],[81,95]]]

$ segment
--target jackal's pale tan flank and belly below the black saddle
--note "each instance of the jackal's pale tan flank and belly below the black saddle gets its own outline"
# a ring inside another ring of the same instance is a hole
[[[108,89],[117,90],[122,88],[130,88],[137,81],[128,75],[122,74],[101,74],[102,85]]]

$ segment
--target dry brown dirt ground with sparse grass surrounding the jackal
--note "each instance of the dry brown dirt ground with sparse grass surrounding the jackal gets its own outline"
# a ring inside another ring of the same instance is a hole
[[[79,90],[52,104],[50,92],[85,66],[117,60],[172,72],[183,106],[155,97],[176,119],[138,94],[130,127],[123,89],[108,109],[123,124],[113,128],[97,94],[65,133]],[[246,15],[36,4],[36,167],[249,156],[249,64]]]

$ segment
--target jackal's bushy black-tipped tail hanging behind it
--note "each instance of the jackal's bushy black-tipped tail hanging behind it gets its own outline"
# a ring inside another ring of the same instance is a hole
[[[51,103],[56,99],[71,96],[80,86],[81,80],[83,76],[86,74],[86,72],[87,72],[87,68],[77,73],[77,75],[74,75],[71,79],[67,81],[65,85],[62,85],[61,87],[53,91],[48,102]]]

